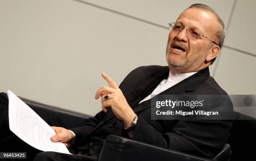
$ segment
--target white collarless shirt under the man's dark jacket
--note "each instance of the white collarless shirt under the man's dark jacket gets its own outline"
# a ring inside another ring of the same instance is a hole
[[[141,102],[144,102],[144,101],[147,101],[147,100],[151,99],[151,95],[157,95],[157,94],[161,93],[162,91],[165,91],[166,89],[168,89],[168,88],[176,85],[177,83],[183,81],[184,79],[194,75],[195,73],[197,73],[197,72],[181,73],[181,74],[173,75],[169,71],[168,78],[161,81],[159,83],[159,85],[155,88],[155,90],[150,95],[148,95],[146,98],[144,98],[142,101],[140,101],[139,104]]]

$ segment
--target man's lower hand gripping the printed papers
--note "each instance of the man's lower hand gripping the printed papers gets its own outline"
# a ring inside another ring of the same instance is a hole
[[[51,136],[51,141],[53,142],[60,141],[61,143],[64,143],[65,146],[68,146],[69,141],[71,141],[72,138],[74,137],[72,132],[70,132],[66,128],[61,128],[61,127],[51,126],[51,128],[53,128],[54,131],[56,132],[56,135]]]

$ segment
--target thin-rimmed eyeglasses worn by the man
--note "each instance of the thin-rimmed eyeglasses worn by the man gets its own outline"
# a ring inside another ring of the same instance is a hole
[[[195,30],[193,30],[193,29],[184,28],[184,26],[175,25],[175,23],[169,23],[169,30],[170,29],[172,29],[172,32],[175,34],[179,34],[183,29],[187,30],[187,37],[193,41],[202,39],[202,37],[207,38],[206,36],[195,32]],[[207,38],[207,39],[210,40],[212,43],[215,43],[211,39],[209,39],[209,38]],[[215,43],[215,44],[218,45],[217,43]]]

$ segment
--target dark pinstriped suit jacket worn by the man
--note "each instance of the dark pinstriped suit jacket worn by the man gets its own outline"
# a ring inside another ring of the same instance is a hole
[[[211,158],[227,141],[232,121],[151,120],[151,100],[138,104],[168,75],[168,66],[143,66],[129,73],[120,84],[126,100],[138,115],[132,139]],[[210,77],[209,69],[205,68],[160,94],[227,93]],[[82,126],[71,130],[76,133],[72,147],[90,149],[90,155],[99,155],[105,137],[110,134],[129,137],[123,131],[123,122],[118,120],[111,110],[108,113],[101,111]]]

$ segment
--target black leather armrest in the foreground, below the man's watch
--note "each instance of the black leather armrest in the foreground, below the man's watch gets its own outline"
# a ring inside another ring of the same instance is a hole
[[[99,161],[213,161],[209,158],[161,148],[140,141],[110,135],[100,152]]]

